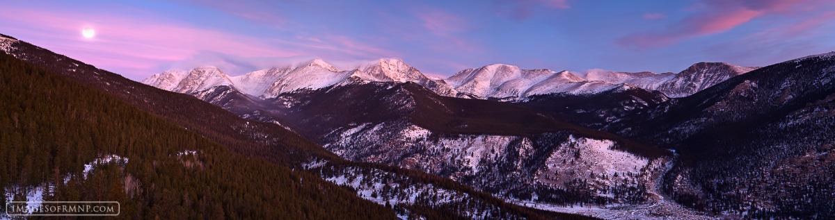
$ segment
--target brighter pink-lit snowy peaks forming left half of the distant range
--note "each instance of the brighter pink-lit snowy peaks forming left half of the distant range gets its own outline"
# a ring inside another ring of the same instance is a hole
[[[321,59],[296,66],[272,67],[229,77],[217,67],[197,67],[191,71],[169,70],[142,82],[172,92],[202,92],[210,87],[230,86],[253,97],[276,97],[299,89],[319,89],[347,82],[416,82],[438,94],[461,96],[443,80],[433,80],[401,59],[380,59],[356,69],[340,71]]]

